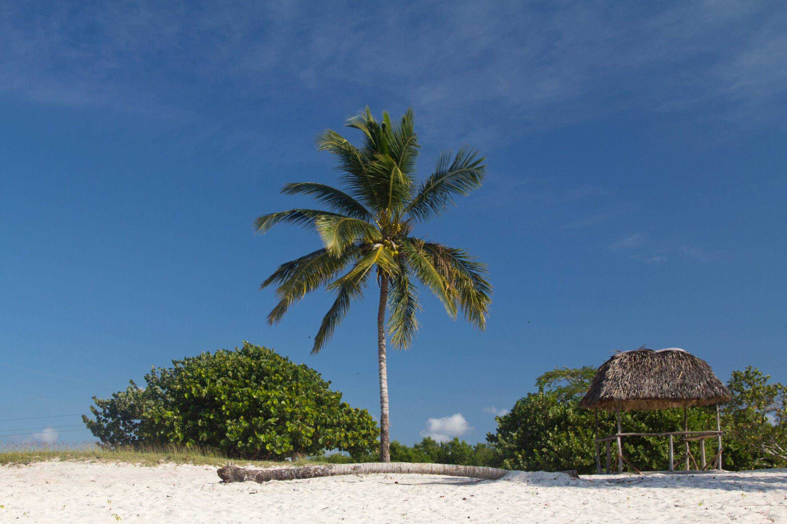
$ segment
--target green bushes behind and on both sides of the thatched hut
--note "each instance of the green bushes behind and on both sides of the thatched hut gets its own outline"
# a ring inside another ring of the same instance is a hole
[[[497,452],[501,467],[517,470],[566,470],[580,473],[596,470],[595,421],[593,411],[580,409],[578,402],[586,393],[595,374],[593,367],[556,368],[538,377],[538,393],[519,399],[508,415],[497,417],[497,432],[486,440]],[[733,371],[727,383],[733,399],[722,406],[724,468],[741,470],[754,467],[787,465],[787,423],[785,405],[787,388],[767,383],[752,367]],[[692,407],[687,411],[689,430],[715,429],[715,407]],[[599,434],[614,434],[615,413],[598,412]],[[624,411],[623,431],[663,433],[682,430],[683,410],[663,409]],[[708,441],[714,442],[715,441]],[[604,446],[604,445],[602,445]],[[612,445],[615,462],[615,445]],[[711,445],[708,459],[715,454]],[[683,461],[682,441],[676,439],[674,463]],[[694,457],[700,456],[700,444],[690,443]],[[666,470],[666,437],[625,437],[623,456],[641,470]],[[602,467],[605,450],[602,447]],[[698,458],[697,458],[698,460]],[[693,467],[693,463],[692,463]]]

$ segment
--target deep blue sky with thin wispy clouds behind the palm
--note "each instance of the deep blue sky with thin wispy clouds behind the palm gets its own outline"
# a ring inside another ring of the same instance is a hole
[[[483,441],[541,372],[645,344],[787,381],[785,24],[767,1],[0,2],[0,441],[87,440],[91,396],[243,340],[375,413],[374,290],[310,356],[331,297],[268,327],[257,288],[319,240],[251,227],[307,202],[283,183],[334,183],[314,135],[365,105],[412,105],[422,175],[464,143],[489,166],[419,230],[490,265],[488,330],[422,297],[393,438]]]

